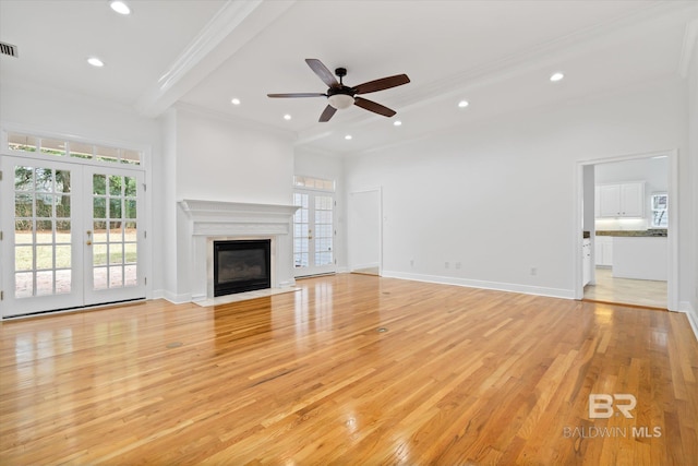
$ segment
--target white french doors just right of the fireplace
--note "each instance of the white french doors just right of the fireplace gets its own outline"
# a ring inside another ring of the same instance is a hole
[[[330,193],[297,190],[293,205],[293,266],[296,276],[334,273],[335,199]]]

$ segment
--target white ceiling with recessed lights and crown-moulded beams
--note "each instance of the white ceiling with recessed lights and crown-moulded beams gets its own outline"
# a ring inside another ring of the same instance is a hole
[[[107,0],[0,0],[0,41],[19,47],[19,58],[0,57],[2,85],[46,84],[151,117],[195,106],[342,154],[682,79],[698,27],[696,1],[128,3],[132,14],[121,16]],[[106,65],[89,67],[91,56]],[[320,123],[324,97],[266,97],[325,92],[305,58],[347,68],[348,85],[399,73],[411,83],[366,95],[397,110],[390,119],[354,106]],[[565,80],[551,83],[558,70]]]

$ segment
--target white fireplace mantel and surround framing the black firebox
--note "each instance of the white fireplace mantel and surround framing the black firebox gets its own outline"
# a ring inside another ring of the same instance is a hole
[[[272,288],[293,286],[296,205],[185,199],[178,202],[190,235],[191,299],[213,298],[212,244],[219,239],[272,239]]]

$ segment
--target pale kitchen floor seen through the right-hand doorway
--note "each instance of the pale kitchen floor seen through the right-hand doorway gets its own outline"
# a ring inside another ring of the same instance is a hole
[[[666,309],[666,282],[617,278],[604,267],[595,272],[597,283],[585,287],[585,299]]]

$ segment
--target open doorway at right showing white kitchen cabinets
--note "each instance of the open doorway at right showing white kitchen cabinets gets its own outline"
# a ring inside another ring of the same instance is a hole
[[[675,151],[578,168],[582,235],[576,298],[675,310],[676,218],[669,207],[676,199]]]

